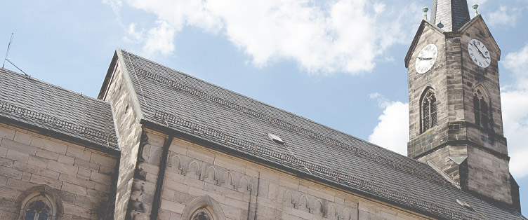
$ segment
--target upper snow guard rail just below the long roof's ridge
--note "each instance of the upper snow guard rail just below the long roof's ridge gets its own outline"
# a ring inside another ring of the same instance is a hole
[[[320,142],[324,142],[326,144],[333,144],[334,147],[339,147],[340,149],[344,149],[345,151],[348,151],[350,153],[353,153],[355,156],[362,156],[363,158],[369,158],[371,160],[374,160],[374,162],[385,165],[385,167],[392,167],[395,170],[398,170],[400,172],[404,173],[411,173],[412,176],[418,177],[421,179],[426,179],[427,181],[433,182],[440,186],[450,186],[452,188],[459,189],[459,186],[456,184],[451,183],[450,181],[446,181],[442,175],[438,174],[437,172],[430,173],[426,172],[423,169],[419,169],[416,167],[409,167],[408,165],[403,165],[401,163],[397,163],[394,160],[390,160],[388,158],[385,158],[383,156],[378,156],[376,153],[371,153],[369,151],[365,151],[363,149],[359,149],[355,146],[351,146],[350,144],[345,144],[344,142],[339,141],[338,139],[334,139],[331,137],[326,137],[325,135],[319,135],[316,132],[313,132],[312,130],[302,128],[301,126],[293,125],[292,123],[288,123],[282,119],[279,118],[273,118],[272,116],[268,116],[266,114],[261,114],[258,111],[255,111],[253,109],[249,109],[245,106],[242,106],[240,104],[235,104],[234,102],[225,101],[225,99],[217,97],[215,95],[209,95],[206,92],[202,92],[201,90],[198,90],[196,88],[192,88],[188,85],[183,85],[182,83],[178,83],[176,81],[171,80],[170,78],[166,78],[164,76],[159,76],[157,74],[154,74],[152,72],[148,72],[144,69],[138,69],[139,76],[143,76],[143,78],[152,79],[153,81],[157,81],[159,83],[163,83],[164,85],[169,85],[169,88],[173,90],[181,90],[184,92],[187,92],[190,95],[196,95],[197,97],[200,97],[202,99],[207,99],[211,102],[216,102],[220,104],[220,106],[227,106],[230,109],[234,109],[237,111],[240,111],[244,113],[246,116],[251,115],[254,116],[262,121],[268,121],[269,123],[279,125],[282,128],[286,128],[291,132],[297,132],[302,135],[308,135],[312,139],[317,139]],[[155,110],[154,111],[159,111]],[[163,118],[163,116],[162,116]],[[351,135],[350,135],[351,136]],[[353,137],[353,136],[352,136]],[[386,150],[386,149],[385,149]],[[402,156],[404,157],[404,156]],[[407,158],[407,157],[404,157]],[[411,159],[411,158],[409,158]]]

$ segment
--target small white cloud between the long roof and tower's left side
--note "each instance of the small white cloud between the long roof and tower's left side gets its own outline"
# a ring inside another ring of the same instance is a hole
[[[409,104],[390,102],[378,93],[371,94],[369,97],[377,99],[378,105],[383,108],[383,114],[378,118],[378,125],[369,135],[369,142],[407,156]]]

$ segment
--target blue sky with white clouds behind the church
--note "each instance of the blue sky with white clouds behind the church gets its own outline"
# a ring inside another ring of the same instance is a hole
[[[477,3],[502,50],[510,171],[528,210],[528,0]],[[0,54],[13,32],[9,60],[35,78],[96,97],[114,49],[122,48],[404,154],[404,56],[430,4],[1,1]]]

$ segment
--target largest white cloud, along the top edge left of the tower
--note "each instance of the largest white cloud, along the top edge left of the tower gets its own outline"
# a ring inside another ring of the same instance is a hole
[[[173,45],[176,34],[184,27],[199,27],[225,36],[257,67],[292,60],[314,74],[371,71],[376,62],[390,60],[385,54],[390,46],[411,41],[421,20],[420,6],[402,6],[397,0],[385,1],[394,7],[367,0],[127,2],[157,16],[161,23],[149,33],[163,34],[164,45]],[[161,33],[160,28],[167,31]],[[164,46],[152,46],[154,41],[149,39],[152,37],[145,39],[145,53],[170,54]]]

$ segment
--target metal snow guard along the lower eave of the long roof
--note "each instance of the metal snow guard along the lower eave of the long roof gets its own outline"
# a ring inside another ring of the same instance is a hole
[[[433,202],[428,202],[418,198],[411,198],[410,195],[404,195],[404,193],[390,190],[388,188],[384,188],[383,186],[378,186],[374,183],[371,183],[370,181],[364,181],[363,179],[352,177],[349,174],[343,174],[337,170],[324,167],[323,165],[317,165],[315,163],[310,163],[305,160],[299,160],[295,156],[286,153],[281,153],[272,149],[258,146],[258,144],[246,141],[244,139],[240,139],[238,137],[233,137],[232,135],[229,135],[226,132],[221,132],[219,130],[215,130],[214,128],[208,128],[204,125],[199,125],[192,121],[187,121],[185,118],[179,118],[178,116],[166,113],[164,111],[159,111],[157,109],[155,111],[156,114],[154,115],[154,119],[159,121],[163,126],[165,126],[166,123],[171,123],[172,125],[177,125],[180,128],[188,128],[192,130],[193,135],[199,135],[199,133],[201,133],[205,136],[216,138],[218,139],[218,141],[227,146],[232,145],[241,147],[247,153],[253,153],[257,156],[258,153],[260,153],[268,158],[273,158],[275,159],[276,163],[279,163],[280,161],[280,163],[282,163],[283,165],[289,164],[296,167],[305,167],[309,169],[312,172],[311,174],[314,176],[326,177],[324,179],[329,181],[335,181],[338,184],[343,184],[348,187],[359,188],[360,191],[374,193],[382,198],[388,198],[392,201],[400,202],[400,204],[402,205],[408,205],[411,207],[422,209],[426,212],[428,211],[431,213],[439,214],[440,216],[450,217],[451,219],[474,219],[461,212],[455,212],[446,207],[442,207],[442,205],[435,205],[433,204]],[[300,170],[301,172],[305,172],[303,169]]]

